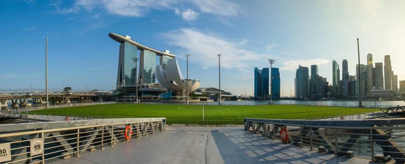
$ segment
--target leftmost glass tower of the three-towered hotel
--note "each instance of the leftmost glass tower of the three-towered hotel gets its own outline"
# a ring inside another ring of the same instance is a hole
[[[120,45],[118,57],[117,86],[135,85],[137,81],[135,58],[137,57],[137,46],[123,42]]]

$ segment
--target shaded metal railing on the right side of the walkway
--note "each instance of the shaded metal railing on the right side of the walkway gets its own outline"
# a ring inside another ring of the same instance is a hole
[[[405,119],[280,120],[245,118],[245,130],[273,139],[288,130],[288,142],[329,153],[405,162]]]

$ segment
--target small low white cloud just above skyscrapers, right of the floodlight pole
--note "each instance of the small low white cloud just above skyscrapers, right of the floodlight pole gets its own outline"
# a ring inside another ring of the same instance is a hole
[[[308,59],[308,60],[294,60],[294,59],[281,59],[280,71],[295,72],[298,69],[298,65],[302,65],[311,68],[311,65],[317,64],[321,67],[329,62],[326,59]]]

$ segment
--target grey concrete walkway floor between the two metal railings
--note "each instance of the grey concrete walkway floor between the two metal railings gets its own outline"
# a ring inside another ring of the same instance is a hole
[[[163,132],[52,163],[368,163],[251,134],[243,126],[168,126]]]

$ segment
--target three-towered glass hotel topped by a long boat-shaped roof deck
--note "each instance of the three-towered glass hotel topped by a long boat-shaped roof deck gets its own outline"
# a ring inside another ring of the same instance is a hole
[[[129,36],[120,36],[110,33],[110,38],[121,43],[119,48],[117,86],[134,86],[137,83],[137,62],[138,51],[141,51],[139,60],[139,79],[141,84],[155,83],[156,78],[156,55],[160,56],[160,65],[163,69],[168,59],[173,59],[176,55],[170,51],[159,51],[144,46],[131,40]]]

